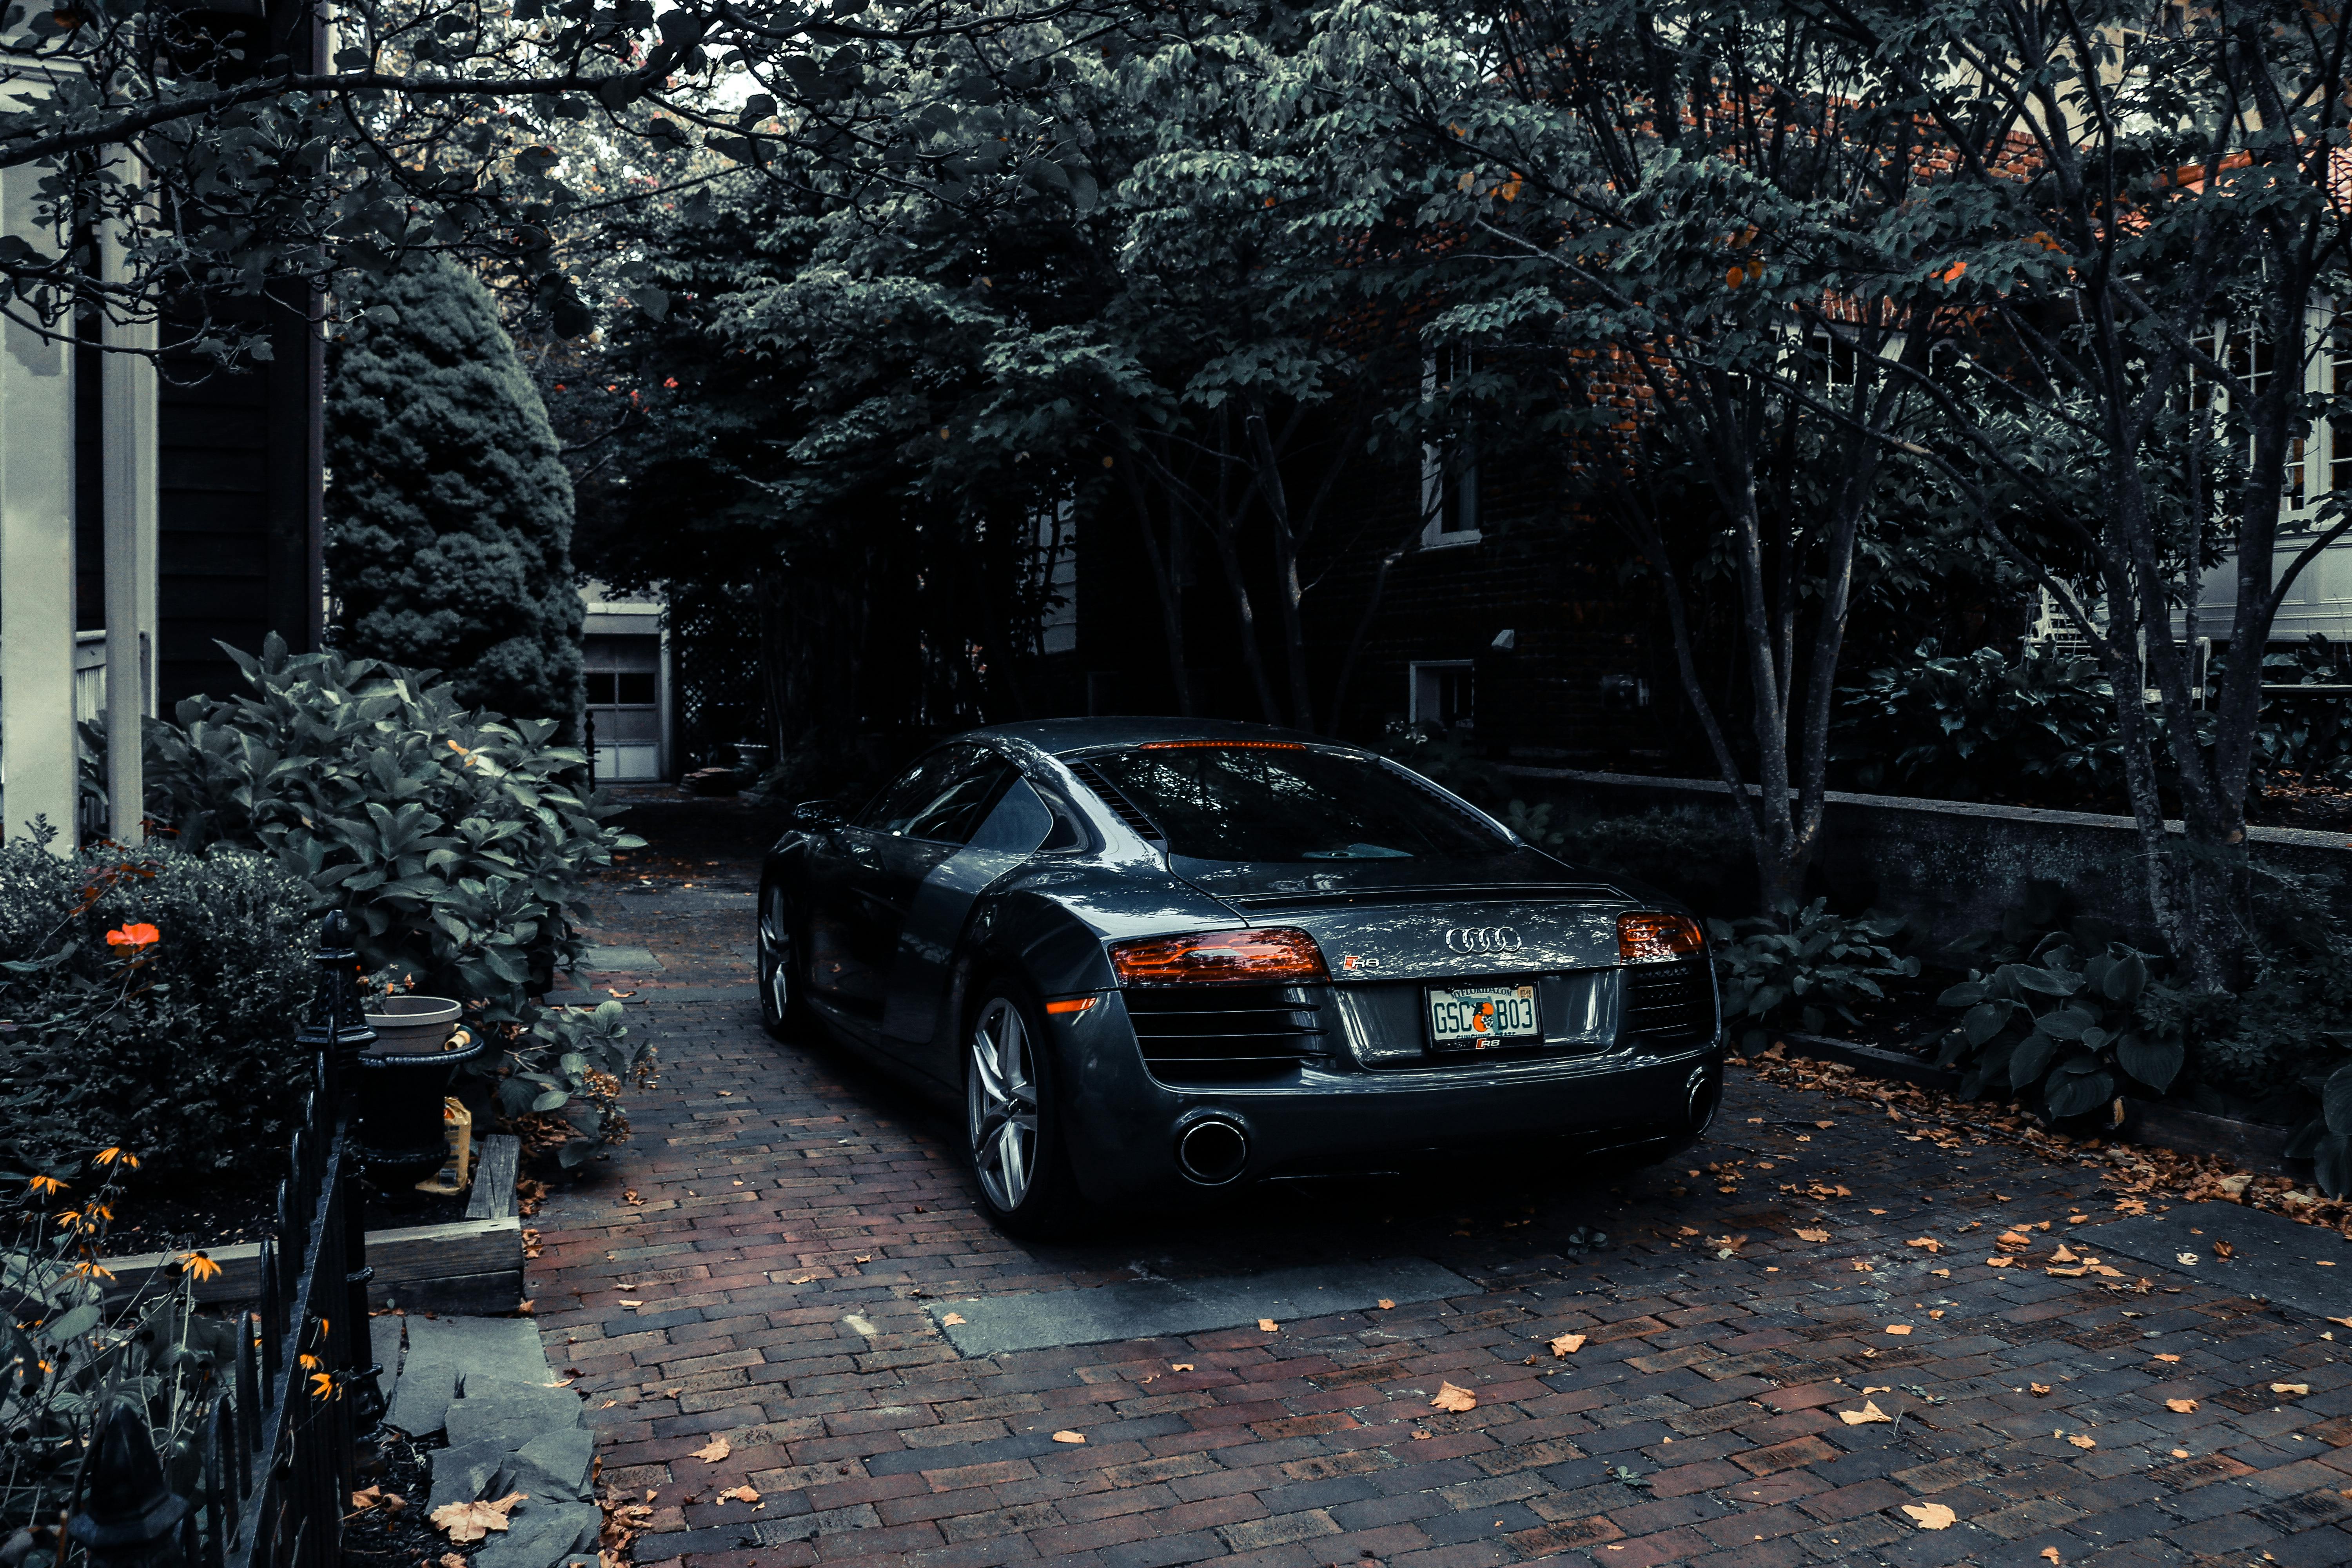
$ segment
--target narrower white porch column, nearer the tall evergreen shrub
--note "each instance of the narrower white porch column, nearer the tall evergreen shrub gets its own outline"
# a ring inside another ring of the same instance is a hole
[[[122,244],[106,244],[106,277],[122,277]],[[108,324],[108,348],[155,348],[155,324]],[[139,733],[155,691],[155,362],[103,360],[106,463],[106,832],[146,842],[146,769]]]

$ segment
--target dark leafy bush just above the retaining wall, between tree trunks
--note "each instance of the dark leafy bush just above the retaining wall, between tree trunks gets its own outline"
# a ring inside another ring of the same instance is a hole
[[[2114,691],[2091,658],[2025,649],[1872,670],[1839,691],[1832,762],[1858,790],[2096,802],[2122,790]]]

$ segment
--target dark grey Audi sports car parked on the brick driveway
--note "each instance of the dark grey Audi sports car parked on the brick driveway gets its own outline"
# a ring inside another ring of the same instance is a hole
[[[1421,1152],[1665,1157],[1722,1088],[1686,910],[1258,724],[1000,724],[797,806],[760,1009],[955,1095],[1014,1232]]]

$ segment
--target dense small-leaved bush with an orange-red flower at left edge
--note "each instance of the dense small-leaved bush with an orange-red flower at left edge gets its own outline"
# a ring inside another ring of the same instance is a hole
[[[7,1133],[54,1164],[89,1147],[148,1175],[280,1159],[294,1044],[318,990],[313,893],[242,849],[205,856],[0,844]]]

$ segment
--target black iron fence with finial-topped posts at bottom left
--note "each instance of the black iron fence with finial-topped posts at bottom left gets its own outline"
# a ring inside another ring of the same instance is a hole
[[[99,1422],[82,1507],[66,1535],[92,1568],[332,1568],[358,1481],[360,1434],[383,1418],[367,1328],[367,1232],[350,1135],[358,1051],[374,1041],[358,1004],[350,924],[325,922],[325,1018],[261,1244],[261,1300],[240,1314],[235,1371],[198,1420],[202,1486],[176,1495],[146,1420],[115,1403]]]

